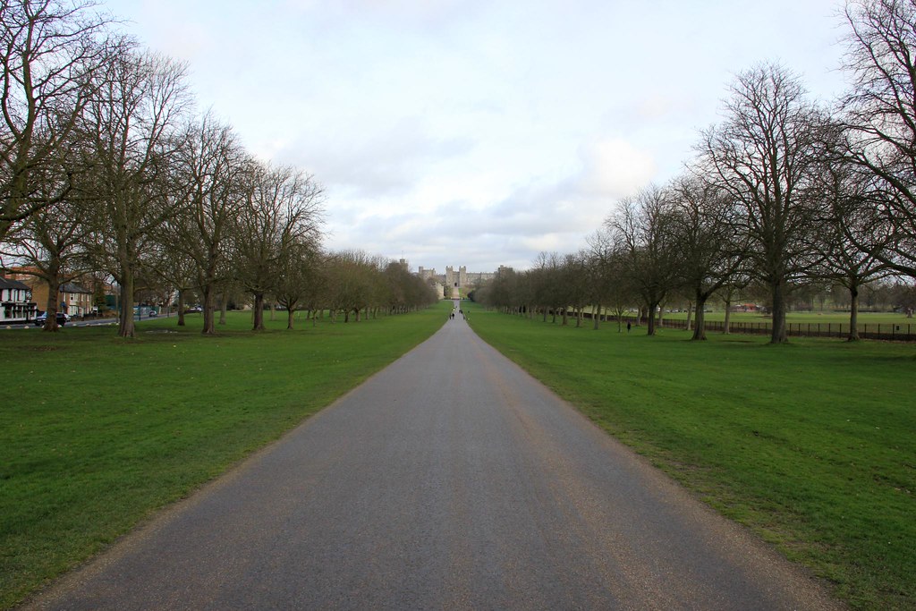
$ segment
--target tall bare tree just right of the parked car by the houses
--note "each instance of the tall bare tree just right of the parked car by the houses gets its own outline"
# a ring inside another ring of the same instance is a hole
[[[158,227],[175,214],[169,161],[173,137],[189,101],[185,68],[150,54],[122,53],[95,75],[97,92],[86,107],[95,149],[95,255],[121,290],[118,334],[134,335],[137,273]]]

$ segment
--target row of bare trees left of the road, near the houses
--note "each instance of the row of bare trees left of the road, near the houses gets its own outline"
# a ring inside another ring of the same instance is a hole
[[[122,336],[135,333],[138,282],[199,293],[203,333],[214,333],[216,296],[232,289],[250,295],[255,329],[267,299],[294,306],[321,294],[347,317],[431,299],[395,282],[387,262],[323,253],[311,174],[246,152],[229,125],[194,111],[184,65],[141,49],[97,9],[0,3],[0,253],[48,283],[46,329],[56,329],[60,284],[100,271],[120,287]],[[358,283],[344,269],[377,278]],[[320,277],[350,288],[309,288]],[[383,283],[386,298],[366,288]]]

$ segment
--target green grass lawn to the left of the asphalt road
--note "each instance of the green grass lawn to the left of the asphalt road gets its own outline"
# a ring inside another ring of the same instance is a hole
[[[0,330],[0,608],[100,551],[434,333],[417,313],[251,333],[231,313],[114,327]]]

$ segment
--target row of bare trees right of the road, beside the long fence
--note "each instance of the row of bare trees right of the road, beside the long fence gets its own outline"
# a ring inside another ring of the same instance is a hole
[[[783,343],[791,292],[830,282],[849,291],[856,339],[863,286],[916,278],[916,0],[853,0],[845,17],[853,87],[834,108],[779,64],[740,74],[681,176],[620,202],[581,253],[541,256],[482,297],[545,312],[638,304],[652,334],[681,291],[703,339],[705,302],[758,284]],[[540,281],[562,269],[575,279]]]

